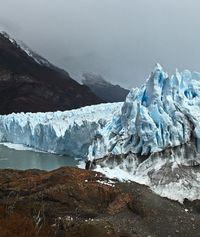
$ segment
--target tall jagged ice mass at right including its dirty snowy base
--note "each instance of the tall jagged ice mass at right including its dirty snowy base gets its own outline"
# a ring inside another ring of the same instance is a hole
[[[88,154],[96,171],[181,203],[200,199],[200,73],[169,77],[157,64],[98,134]]]

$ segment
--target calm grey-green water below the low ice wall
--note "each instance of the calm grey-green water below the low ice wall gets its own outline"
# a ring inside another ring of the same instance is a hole
[[[0,145],[0,169],[53,170],[62,166],[76,166],[77,164],[78,161],[68,156],[35,151],[18,151]]]

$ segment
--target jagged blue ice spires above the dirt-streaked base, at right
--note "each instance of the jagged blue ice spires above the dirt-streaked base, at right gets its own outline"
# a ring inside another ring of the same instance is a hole
[[[185,144],[192,136],[200,150],[200,73],[176,71],[169,77],[157,64],[146,84],[130,91],[121,114],[99,134],[90,159],[110,153],[149,155]]]

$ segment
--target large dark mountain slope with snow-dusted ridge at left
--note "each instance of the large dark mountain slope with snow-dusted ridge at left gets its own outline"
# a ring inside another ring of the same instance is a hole
[[[0,33],[0,114],[66,110],[103,102],[67,72]]]

